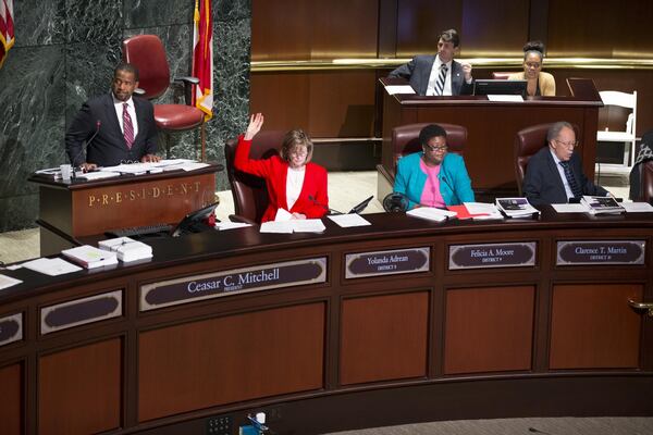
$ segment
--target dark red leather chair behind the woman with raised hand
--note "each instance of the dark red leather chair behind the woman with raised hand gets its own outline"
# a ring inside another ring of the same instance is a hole
[[[284,132],[263,130],[254,137],[250,159],[267,159],[279,156]],[[234,158],[237,139],[229,139],[224,147],[226,159],[226,175],[234,198],[235,215],[230,219],[234,222],[260,223],[268,208],[268,188],[263,178],[250,175],[234,167]]]

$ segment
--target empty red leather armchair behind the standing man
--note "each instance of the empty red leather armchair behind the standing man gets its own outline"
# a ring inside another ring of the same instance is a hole
[[[165,59],[165,49],[161,39],[156,35],[137,35],[123,41],[123,61],[132,63],[138,67],[139,91],[147,99],[155,99],[162,96],[169,88],[170,67]],[[206,159],[206,132],[205,113],[192,105],[193,85],[197,85],[199,79],[196,77],[178,77],[174,79],[177,91],[174,94],[174,104],[155,104],[155,122],[165,141],[165,156],[170,157],[170,133],[193,129],[201,127],[201,160]],[[180,89],[181,88],[181,89]],[[185,104],[177,101],[181,95],[184,95]]]

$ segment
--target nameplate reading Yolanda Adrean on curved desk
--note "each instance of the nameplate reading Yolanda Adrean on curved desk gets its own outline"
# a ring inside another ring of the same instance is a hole
[[[347,253],[345,278],[427,272],[431,265],[431,248]]]

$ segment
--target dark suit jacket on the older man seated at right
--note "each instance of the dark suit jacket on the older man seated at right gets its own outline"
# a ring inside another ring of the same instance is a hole
[[[582,173],[580,158],[576,152],[569,159],[569,166],[576,182],[582,188],[582,195],[607,195],[607,190],[601,186],[596,186]],[[567,202],[565,185],[547,146],[538,151],[528,161],[522,190],[526,198],[533,206]]]

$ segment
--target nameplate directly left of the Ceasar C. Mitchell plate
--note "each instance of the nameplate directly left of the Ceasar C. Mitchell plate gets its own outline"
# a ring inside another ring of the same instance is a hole
[[[69,300],[40,311],[41,334],[122,315],[122,290]]]

